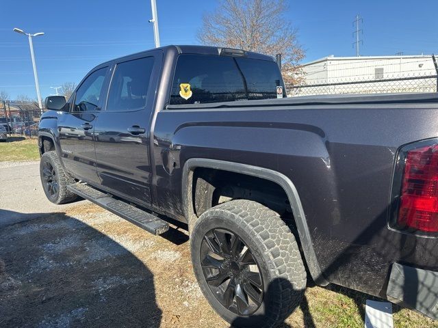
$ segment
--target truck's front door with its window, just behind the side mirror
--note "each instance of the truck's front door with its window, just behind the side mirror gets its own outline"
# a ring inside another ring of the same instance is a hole
[[[94,152],[94,124],[102,107],[108,67],[90,72],[75,94],[69,113],[60,115],[58,132],[62,162],[76,178],[99,183]]]

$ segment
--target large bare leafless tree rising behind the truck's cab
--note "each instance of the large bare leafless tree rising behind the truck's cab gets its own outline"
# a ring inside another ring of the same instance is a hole
[[[198,40],[271,56],[281,53],[283,79],[296,83],[305,51],[296,29],[284,16],[285,10],[284,0],[218,0],[218,8],[203,16]]]

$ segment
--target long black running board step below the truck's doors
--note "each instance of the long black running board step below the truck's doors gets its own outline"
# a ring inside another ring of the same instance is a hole
[[[110,195],[94,189],[88,184],[79,182],[68,184],[67,189],[72,193],[105,208],[105,210],[109,210],[115,215],[123,217],[123,219],[151,232],[151,234],[163,234],[169,230],[169,224],[159,217],[122,202],[121,200],[115,200]]]

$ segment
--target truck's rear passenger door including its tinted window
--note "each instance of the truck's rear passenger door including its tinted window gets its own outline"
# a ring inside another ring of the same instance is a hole
[[[149,126],[157,66],[153,53],[116,63],[105,110],[99,113],[94,128],[101,184],[144,205],[151,204]]]

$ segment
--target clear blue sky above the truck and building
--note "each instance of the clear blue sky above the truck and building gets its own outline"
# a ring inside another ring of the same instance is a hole
[[[272,0],[275,1],[275,0]],[[197,44],[196,31],[213,0],[157,0],[162,45]],[[42,97],[64,82],[78,83],[96,64],[153,48],[149,0],[2,0],[0,90],[36,98],[27,38],[34,38]],[[298,28],[305,61],[355,55],[352,20],[363,17],[361,55],[438,53],[438,1],[290,1],[285,12]]]

